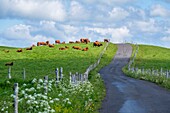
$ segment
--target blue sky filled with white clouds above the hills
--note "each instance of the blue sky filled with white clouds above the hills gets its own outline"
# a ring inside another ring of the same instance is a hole
[[[0,0],[0,46],[80,38],[170,48],[170,0]]]

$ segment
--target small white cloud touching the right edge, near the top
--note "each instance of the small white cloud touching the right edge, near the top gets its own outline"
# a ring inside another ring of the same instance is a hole
[[[170,17],[170,10],[157,4],[152,6],[150,14],[151,16]]]

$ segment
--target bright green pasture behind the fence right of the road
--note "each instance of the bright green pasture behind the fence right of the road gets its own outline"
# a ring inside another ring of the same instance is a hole
[[[135,66],[145,68],[170,69],[170,49],[139,45],[139,52],[135,59]]]

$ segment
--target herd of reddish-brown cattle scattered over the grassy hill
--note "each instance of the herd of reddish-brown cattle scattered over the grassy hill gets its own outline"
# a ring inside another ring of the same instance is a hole
[[[109,42],[110,40],[109,39],[104,39],[104,42]],[[88,44],[90,42],[90,40],[88,38],[81,38],[80,41],[69,41],[70,44],[75,44],[75,43],[85,43],[85,44]],[[65,44],[65,41],[63,42],[60,42],[60,40],[55,40],[55,44]],[[55,45],[54,44],[50,44],[49,41],[46,41],[46,42],[37,42],[37,46],[49,46],[50,48],[53,48]],[[95,41],[93,42],[93,47],[100,47],[102,46],[102,43],[100,43],[99,41]],[[33,50],[33,48],[35,47],[35,45],[33,44],[31,47],[29,48],[26,48],[26,50],[30,51],[30,50]],[[86,47],[86,48],[81,48],[80,46],[72,46],[73,49],[75,50],[82,50],[82,51],[88,51],[89,48]],[[68,46],[64,46],[64,47],[59,47],[59,50],[67,50],[69,49]],[[4,50],[5,53],[9,53],[9,50]],[[18,49],[16,52],[23,52],[23,49],[20,48]],[[5,66],[12,66],[13,65],[13,62],[8,62],[5,64]]]

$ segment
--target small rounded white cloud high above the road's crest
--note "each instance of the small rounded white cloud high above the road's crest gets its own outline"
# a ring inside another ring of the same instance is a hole
[[[122,20],[129,16],[129,13],[120,7],[115,7],[109,12],[109,16],[113,20]]]

